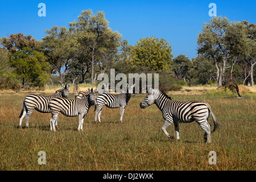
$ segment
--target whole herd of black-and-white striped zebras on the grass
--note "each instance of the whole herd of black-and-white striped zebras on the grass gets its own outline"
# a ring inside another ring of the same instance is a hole
[[[78,130],[82,130],[82,125],[84,123],[84,117],[88,113],[90,106],[95,106],[94,111],[97,110],[94,117],[94,123],[97,121],[101,122],[101,109],[106,105],[109,108],[120,107],[120,121],[122,122],[123,113],[125,107],[127,106],[131,96],[131,90],[133,90],[134,85],[127,84],[127,92],[123,90],[119,94],[110,94],[106,90],[106,85],[104,88],[99,90],[88,89],[88,92],[79,92],[75,94],[75,100],[68,99],[69,96],[69,84],[63,85],[63,88],[57,90],[55,94],[51,96],[40,96],[38,94],[29,94],[23,98],[22,110],[20,113],[19,126],[22,127],[22,120],[26,117],[26,126],[28,127],[28,118],[30,117],[32,111],[35,109],[41,113],[52,113],[50,125],[51,131],[56,131],[57,119],[59,113],[62,113],[68,117],[75,117],[79,115],[79,127]],[[130,93],[128,92],[130,90]],[[148,94],[141,102],[140,107],[142,109],[155,104],[162,111],[164,118],[164,125],[162,131],[168,138],[174,138],[173,135],[167,133],[166,129],[172,123],[174,123],[176,139],[179,140],[179,123],[188,123],[196,121],[196,123],[205,131],[204,140],[210,143],[210,123],[208,118],[210,114],[213,117],[213,124],[215,131],[219,123],[214,116],[210,105],[204,101],[175,101],[171,100],[165,93],[158,89],[148,89]],[[212,131],[212,132],[213,132]]]

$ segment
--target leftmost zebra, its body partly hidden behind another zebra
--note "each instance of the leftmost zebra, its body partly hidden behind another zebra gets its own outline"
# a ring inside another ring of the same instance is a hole
[[[22,101],[22,110],[19,115],[19,127],[22,127],[22,120],[26,116],[26,126],[28,127],[28,118],[32,111],[37,110],[40,113],[51,113],[49,110],[48,103],[52,98],[55,97],[65,97],[69,96],[69,84],[62,85],[62,89],[57,90],[55,94],[51,96],[40,96],[38,94],[29,94],[23,98]]]

